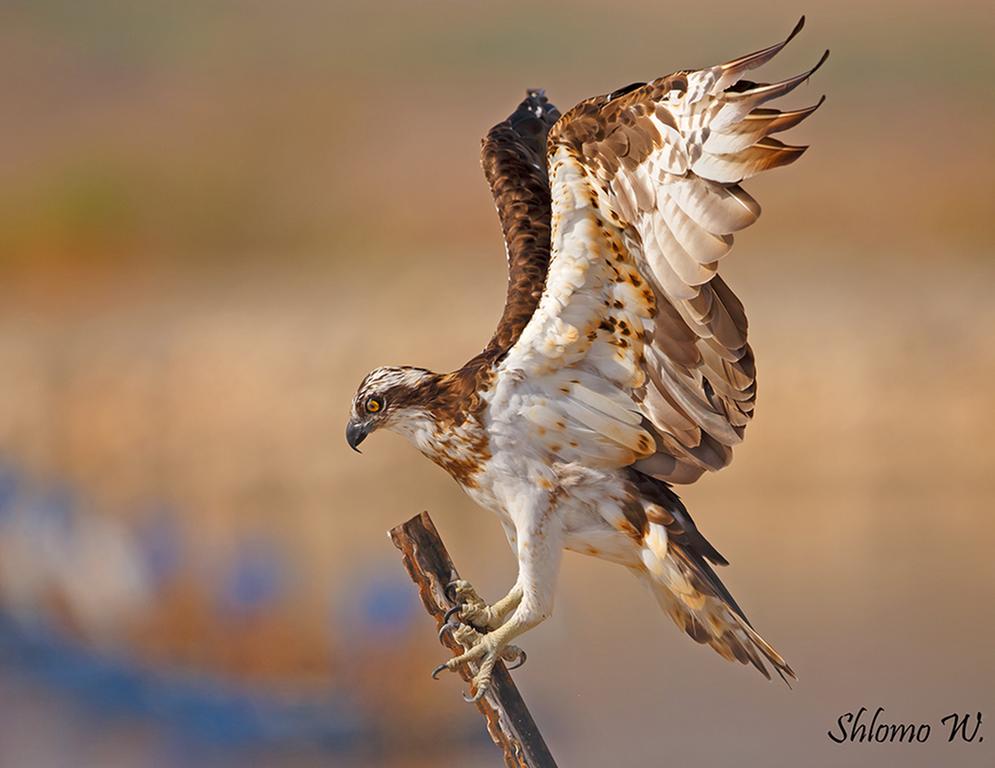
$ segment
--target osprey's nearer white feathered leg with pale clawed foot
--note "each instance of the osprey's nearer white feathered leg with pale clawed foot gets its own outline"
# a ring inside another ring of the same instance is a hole
[[[548,517],[544,517],[539,523],[519,532],[518,581],[515,585],[518,594],[516,589],[512,589],[503,599],[506,602],[502,606],[504,608],[512,602],[517,602],[514,608],[508,608],[511,615],[496,629],[481,635],[465,653],[453,657],[445,664],[440,664],[432,673],[435,676],[444,669],[453,670],[460,664],[476,662],[477,673],[473,678],[474,695],[468,701],[476,701],[487,693],[494,665],[498,659],[506,659],[508,655],[517,652],[517,649],[510,645],[511,641],[552,613],[556,575],[559,572],[563,551],[562,532],[558,528],[552,530]]]

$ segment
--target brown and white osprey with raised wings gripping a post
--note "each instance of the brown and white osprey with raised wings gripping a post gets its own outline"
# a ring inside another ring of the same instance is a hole
[[[829,52],[781,82],[743,79],[803,23],[777,45],[562,117],[529,91],[483,140],[508,257],[494,337],[452,373],[378,368],[359,386],[349,445],[380,428],[404,435],[500,517],[517,555],[518,579],[493,605],[451,585],[470,647],[433,674],[476,662],[474,699],[499,659],[524,659],[510,643],[550,615],[564,549],[631,570],[726,659],[794,677],[716,576],[728,562],[672,484],[726,466],[753,416],[746,315],[718,265],[760,215],[740,183],[806,149],[771,136],[822,99],[762,105]]]

